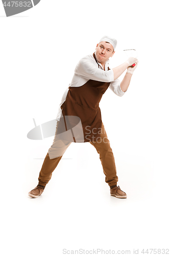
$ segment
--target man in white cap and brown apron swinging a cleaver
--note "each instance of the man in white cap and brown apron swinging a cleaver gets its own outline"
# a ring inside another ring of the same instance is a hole
[[[37,198],[42,194],[71,142],[89,142],[100,155],[111,196],[127,198],[126,193],[117,186],[114,156],[99,108],[99,102],[108,88],[118,96],[125,94],[138,64],[136,58],[130,57],[122,65],[110,69],[109,58],[114,55],[116,45],[116,39],[102,37],[95,52],[82,58],[76,66],[59,106],[53,145],[42,164],[38,185],[29,192],[30,197]],[[135,67],[132,67],[134,63]],[[117,78],[126,69],[127,73],[120,82]]]

